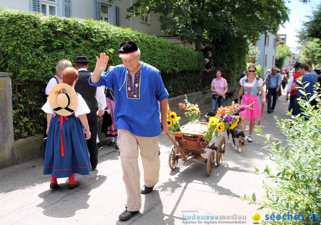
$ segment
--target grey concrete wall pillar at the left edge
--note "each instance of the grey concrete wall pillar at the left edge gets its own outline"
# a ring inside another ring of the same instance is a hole
[[[15,161],[10,76],[12,73],[0,72],[0,169]]]

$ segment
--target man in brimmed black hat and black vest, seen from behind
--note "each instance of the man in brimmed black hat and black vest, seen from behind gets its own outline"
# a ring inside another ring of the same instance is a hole
[[[91,132],[91,138],[87,140],[88,151],[90,154],[91,170],[95,171],[98,164],[98,146],[97,146],[97,116],[102,116],[105,113],[106,98],[102,87],[94,87],[88,84],[88,79],[91,76],[91,72],[87,70],[88,61],[87,56],[77,56],[75,68],[79,73],[79,80],[75,84],[75,91],[80,93],[82,98],[86,101],[90,108],[90,113],[86,114],[89,129]],[[98,111],[96,111],[96,101],[98,101]]]

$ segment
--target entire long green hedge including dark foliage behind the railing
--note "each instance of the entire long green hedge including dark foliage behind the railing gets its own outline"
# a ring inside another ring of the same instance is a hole
[[[202,84],[203,53],[102,21],[43,17],[42,14],[0,9],[0,36],[0,71],[12,73],[18,82],[40,82],[38,86],[29,87],[30,96],[36,96],[34,101],[22,100],[26,90],[18,88],[19,107],[13,110],[14,118],[18,114],[20,125],[18,129],[14,119],[16,139],[43,132],[46,119],[40,107],[46,101],[44,90],[50,77],[55,75],[60,59],[73,61],[76,56],[85,55],[92,61],[88,68],[92,71],[96,56],[106,52],[108,65],[118,65],[122,63],[118,57],[119,44],[131,40],[138,44],[141,60],[161,71],[171,96],[195,91]],[[28,103],[38,112],[36,119],[27,118]]]

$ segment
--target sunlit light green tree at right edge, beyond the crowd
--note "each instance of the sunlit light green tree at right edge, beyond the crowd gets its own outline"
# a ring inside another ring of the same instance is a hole
[[[321,63],[321,45],[317,38],[301,44],[300,61],[311,61],[314,67],[316,67],[316,64]]]

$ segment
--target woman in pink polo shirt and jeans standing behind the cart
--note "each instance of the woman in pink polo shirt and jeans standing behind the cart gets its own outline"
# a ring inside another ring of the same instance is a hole
[[[213,79],[211,84],[212,93],[212,111],[217,109],[217,103],[219,103],[219,107],[223,106],[225,93],[227,92],[227,82],[222,77],[221,70],[217,70],[216,78]],[[213,94],[217,94],[216,99],[213,98]]]

